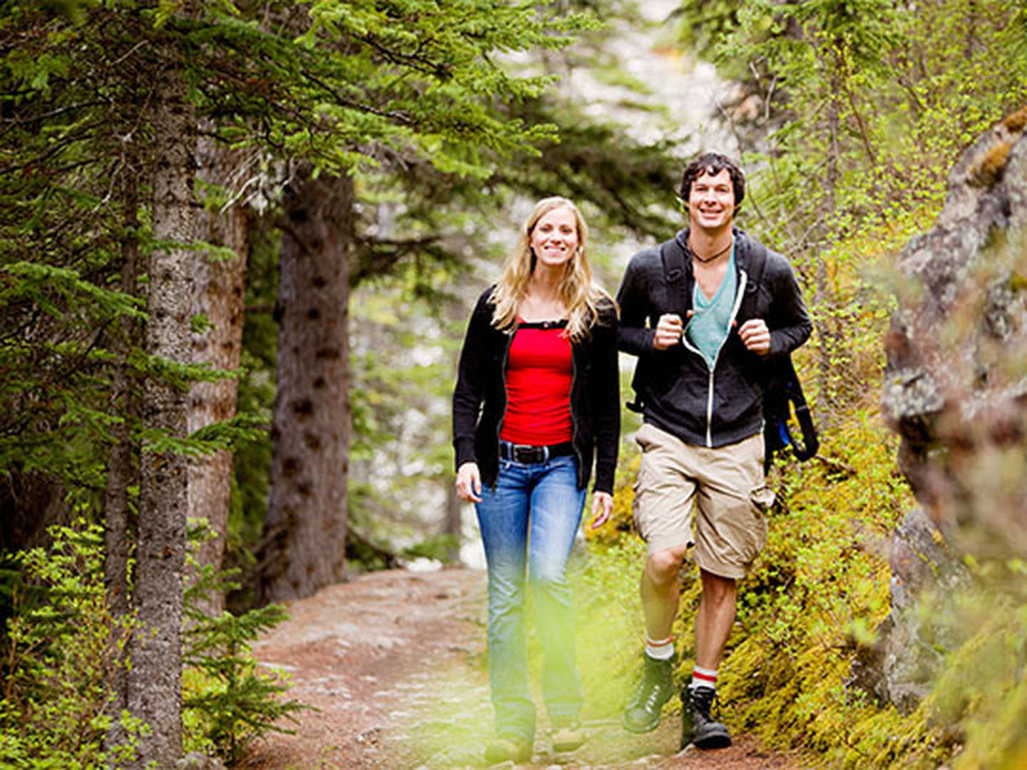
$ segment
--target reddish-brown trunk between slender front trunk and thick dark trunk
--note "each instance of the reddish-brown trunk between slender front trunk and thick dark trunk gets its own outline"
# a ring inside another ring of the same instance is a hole
[[[231,187],[231,171],[239,158],[212,140],[201,140],[197,157],[198,176],[222,188]],[[203,315],[211,325],[192,336],[193,360],[210,363],[218,370],[235,370],[242,349],[242,306],[245,291],[248,217],[241,205],[222,211],[217,204],[199,215],[199,237],[215,245],[226,246],[235,259],[196,260],[193,291],[194,315]],[[238,380],[194,382],[189,389],[189,432],[235,416]],[[227,450],[194,459],[189,465],[189,518],[205,518],[215,537],[204,541],[196,554],[200,565],[221,569],[225,551],[225,532],[231,506],[232,454]],[[212,595],[205,604],[208,613],[220,613],[224,596]]]

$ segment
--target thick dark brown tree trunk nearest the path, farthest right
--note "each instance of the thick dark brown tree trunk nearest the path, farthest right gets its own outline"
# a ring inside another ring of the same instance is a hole
[[[352,180],[309,169],[286,193],[265,601],[308,596],[345,565],[352,204]]]

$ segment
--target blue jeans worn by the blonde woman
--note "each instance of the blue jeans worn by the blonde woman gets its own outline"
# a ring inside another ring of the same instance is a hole
[[[526,563],[544,656],[546,711],[557,721],[581,708],[565,568],[584,498],[577,460],[565,456],[530,465],[500,460],[495,487],[484,488],[476,504],[489,568],[489,684],[498,735],[524,741],[535,735],[525,643]]]

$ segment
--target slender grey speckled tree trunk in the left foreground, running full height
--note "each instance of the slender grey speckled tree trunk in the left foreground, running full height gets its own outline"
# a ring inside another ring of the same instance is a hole
[[[149,265],[147,351],[185,363],[190,358],[194,260],[184,246],[196,235],[192,191],[196,121],[179,46],[165,40],[158,53],[163,67],[156,73],[153,115],[153,237],[157,244]],[[162,378],[149,378],[143,424],[148,431],[184,437],[185,394]],[[142,627],[131,649],[128,708],[151,731],[140,736],[136,766],[168,768],[182,755],[187,463],[181,454],[153,441],[144,446],[140,461],[135,588]]]

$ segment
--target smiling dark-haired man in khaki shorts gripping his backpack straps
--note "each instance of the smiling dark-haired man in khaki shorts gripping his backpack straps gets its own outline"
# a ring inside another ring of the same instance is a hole
[[[681,693],[681,745],[716,748],[731,742],[710,709],[737,580],[766,542],[763,512],[773,501],[763,477],[765,372],[805,342],[812,324],[785,258],[733,225],[745,177],[729,158],[696,157],[680,195],[688,228],[637,254],[617,295],[618,345],[639,357],[634,386],[644,422],[634,513],[648,549],[645,663],[623,726],[654,729],[671,697],[679,572],[694,546],[702,598],[695,666]]]

